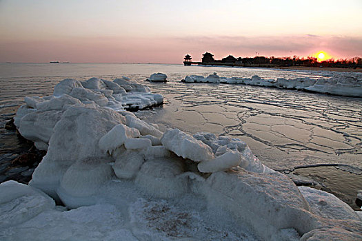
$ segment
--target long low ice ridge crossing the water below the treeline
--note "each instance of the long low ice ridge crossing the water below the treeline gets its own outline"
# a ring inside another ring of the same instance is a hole
[[[360,73],[334,73],[330,77],[320,78],[276,78],[267,79],[257,75],[251,78],[225,78],[219,77],[217,73],[210,74],[206,78],[198,75],[186,76],[185,83],[229,83],[256,85],[264,87],[277,87],[281,89],[304,90],[309,92],[319,92],[334,94],[339,96],[362,97],[362,74]]]

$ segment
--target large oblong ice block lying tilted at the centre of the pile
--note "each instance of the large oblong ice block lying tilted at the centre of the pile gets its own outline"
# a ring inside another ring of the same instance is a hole
[[[189,158],[196,163],[214,158],[212,149],[202,141],[181,132],[179,129],[169,129],[161,138],[162,145],[183,158]]]

